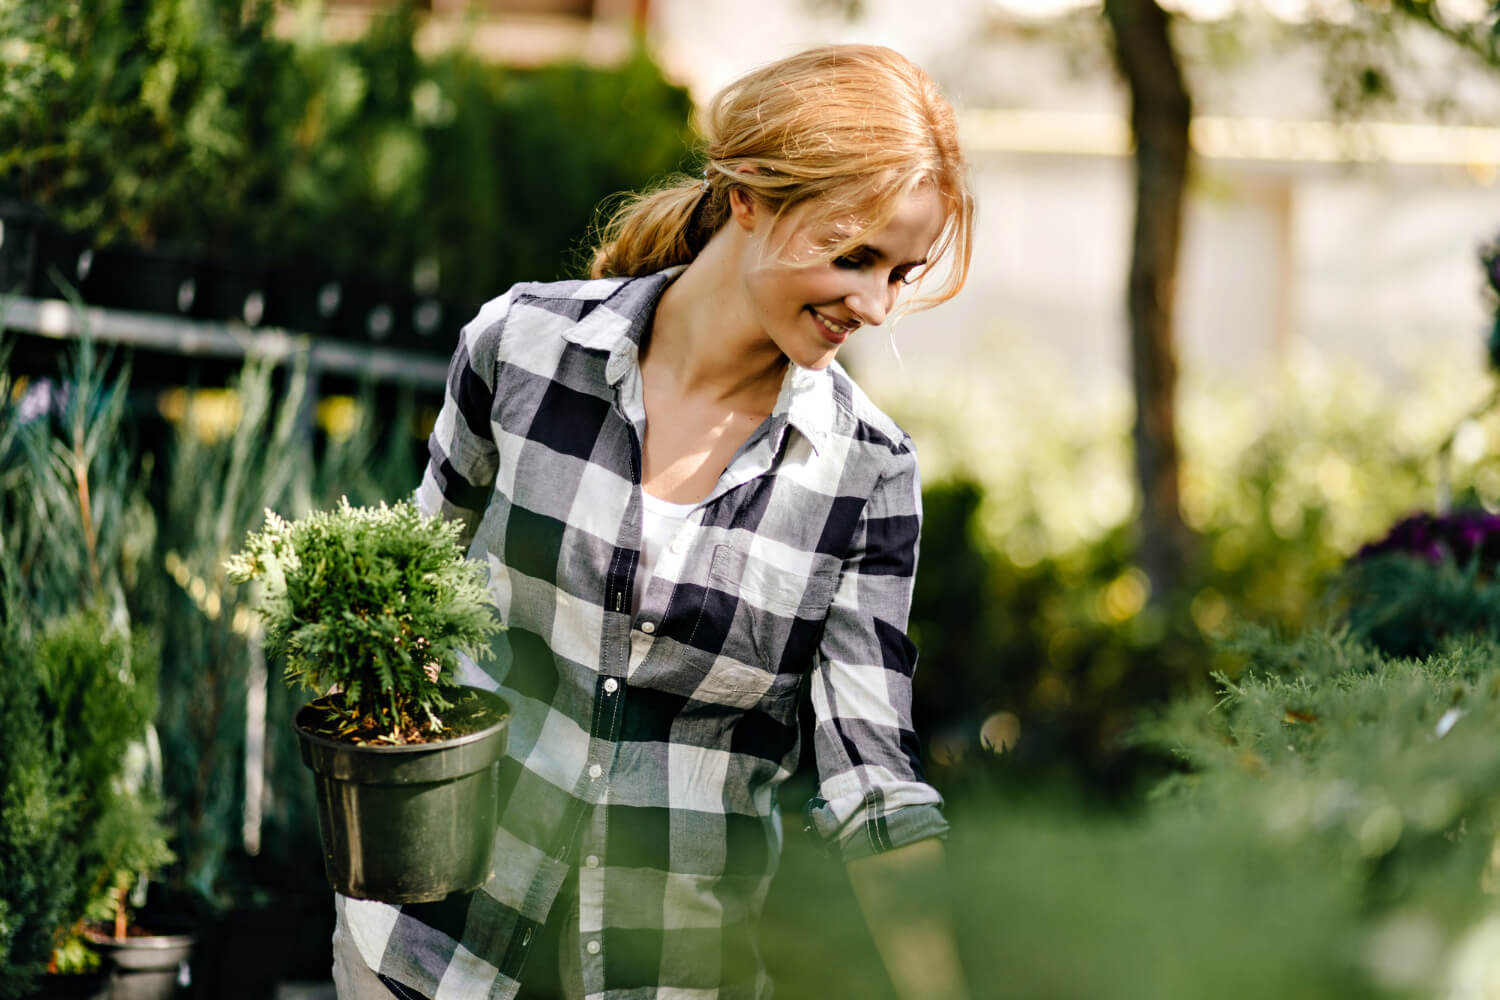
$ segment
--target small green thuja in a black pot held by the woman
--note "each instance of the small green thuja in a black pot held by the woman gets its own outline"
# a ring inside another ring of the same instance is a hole
[[[410,501],[286,522],[267,511],[226,562],[260,580],[268,652],[315,694],[294,726],[312,769],[330,885],[387,903],[489,877],[508,706],[456,681],[500,630],[459,526]]]

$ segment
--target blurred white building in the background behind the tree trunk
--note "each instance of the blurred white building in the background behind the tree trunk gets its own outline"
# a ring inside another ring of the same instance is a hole
[[[884,43],[926,66],[964,118],[981,225],[969,288],[902,322],[906,364],[972,372],[996,337],[1018,337],[1084,381],[1116,378],[1134,195],[1102,19],[1028,19],[994,0],[856,6],[850,19],[848,0],[652,0],[651,31],[699,99],[819,42]],[[1268,373],[1296,343],[1388,372],[1416,351],[1480,364],[1476,250],[1500,235],[1500,70],[1412,31],[1392,60],[1402,100],[1340,127],[1326,42],[1264,15],[1185,27],[1198,115],[1179,280],[1185,370]],[[866,378],[890,367],[884,337],[850,355]]]

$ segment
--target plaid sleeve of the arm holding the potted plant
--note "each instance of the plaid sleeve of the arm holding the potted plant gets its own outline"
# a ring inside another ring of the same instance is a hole
[[[498,448],[489,414],[510,295],[486,303],[459,336],[442,409],[428,438],[428,468],[417,487],[417,507],[424,514],[462,522],[464,546],[474,538],[495,486]]]

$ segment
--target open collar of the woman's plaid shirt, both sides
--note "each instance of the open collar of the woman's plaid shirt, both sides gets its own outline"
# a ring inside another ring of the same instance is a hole
[[[618,385],[639,366],[640,340],[656,315],[657,300],[681,273],[682,265],[678,265],[624,282],[597,309],[568,327],[564,339],[582,348],[606,351],[604,379]],[[771,411],[771,432],[778,435],[784,426],[796,427],[814,450],[824,451],[832,433],[836,406],[831,370],[789,364]]]

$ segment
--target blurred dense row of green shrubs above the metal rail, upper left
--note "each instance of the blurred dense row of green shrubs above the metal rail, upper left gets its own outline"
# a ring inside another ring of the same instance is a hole
[[[99,240],[480,303],[568,265],[598,201],[681,166],[687,91],[642,51],[534,70],[417,52],[417,15],[291,39],[266,0],[0,7],[0,195]]]

